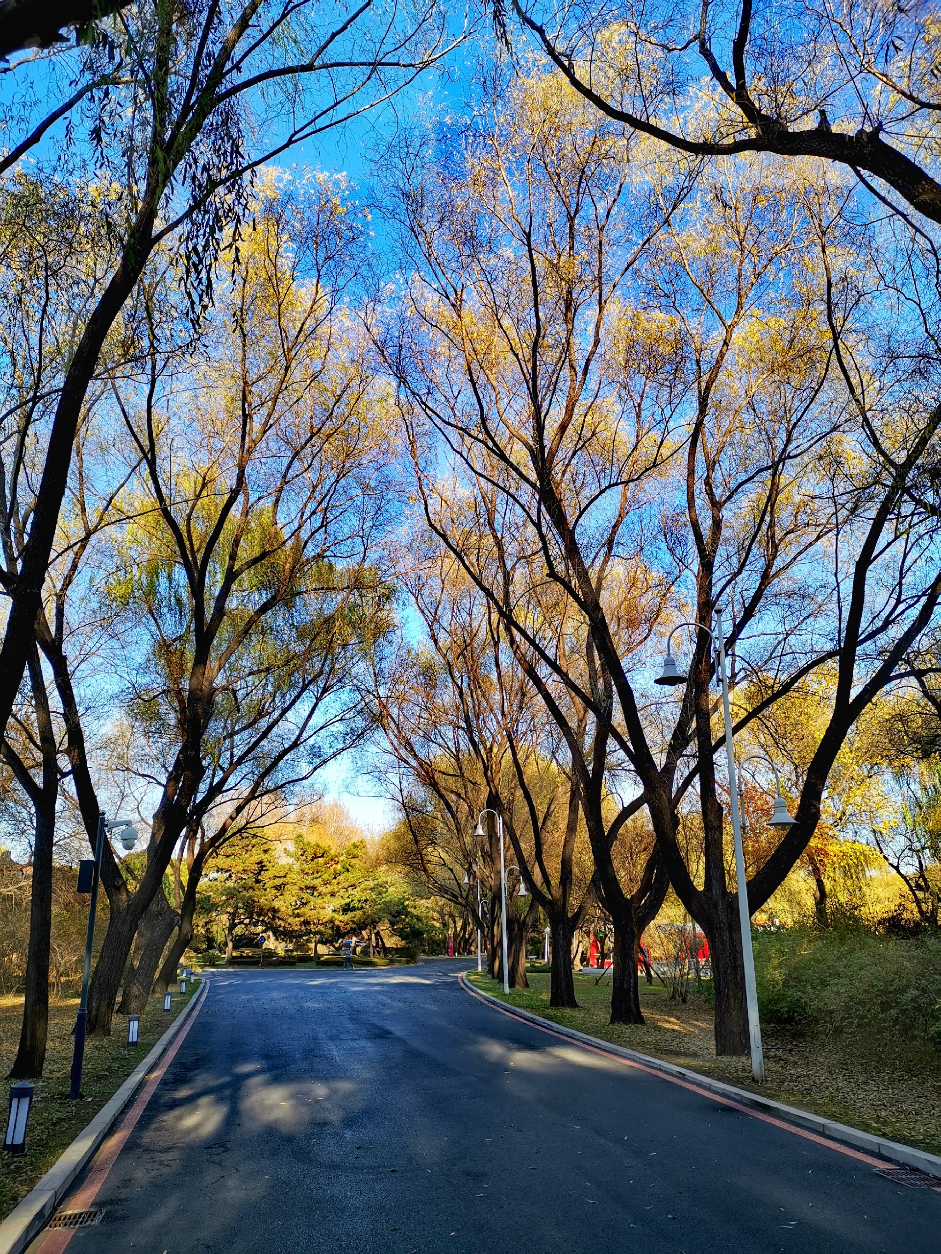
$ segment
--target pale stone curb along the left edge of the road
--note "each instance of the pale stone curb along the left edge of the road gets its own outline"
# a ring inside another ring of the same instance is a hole
[[[43,1179],[0,1224],[0,1254],[21,1254],[30,1241],[41,1233],[74,1184],[75,1178],[88,1166],[102,1141],[117,1122],[118,1116],[147,1078],[148,1072],[166,1053],[183,1025],[196,1014],[206,1001],[208,991],[208,981],[203,978],[199,992],[186,1009],[173,1020],[143,1062],[132,1071],[114,1096],[102,1106],[88,1127],[79,1132],[72,1145],[63,1150]]]

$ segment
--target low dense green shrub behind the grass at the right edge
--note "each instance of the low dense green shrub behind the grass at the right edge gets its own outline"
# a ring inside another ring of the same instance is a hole
[[[762,1014],[873,1042],[941,1048],[941,939],[877,935],[861,924],[803,925],[754,938]]]

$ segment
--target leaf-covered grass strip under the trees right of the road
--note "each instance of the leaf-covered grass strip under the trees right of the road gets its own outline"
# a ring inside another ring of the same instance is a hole
[[[659,984],[641,982],[646,1023],[609,1023],[611,977],[596,986],[596,974],[575,977],[580,1008],[550,1007],[550,977],[529,973],[529,988],[511,989],[469,976],[483,992],[543,1018],[629,1050],[701,1071],[718,1080],[752,1088],[775,1101],[827,1119],[941,1154],[941,1067],[933,1052],[900,1047],[891,1053],[847,1037],[817,1037],[774,1023],[762,1025],[765,1083],[752,1081],[748,1058],[716,1058],[713,1007],[690,996],[684,1006],[670,1001]]]

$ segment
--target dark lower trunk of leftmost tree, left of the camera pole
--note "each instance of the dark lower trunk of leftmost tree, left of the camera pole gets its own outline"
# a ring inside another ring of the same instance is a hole
[[[29,905],[29,951],[26,989],[23,1003],[20,1047],[10,1067],[10,1080],[41,1076],[49,1032],[49,942],[53,927],[53,835],[55,805],[51,813],[36,810],[33,848],[33,885]]]

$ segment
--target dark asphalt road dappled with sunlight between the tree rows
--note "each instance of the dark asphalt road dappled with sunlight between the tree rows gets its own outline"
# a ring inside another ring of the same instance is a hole
[[[465,966],[213,974],[69,1254],[941,1250],[941,1193],[511,1020]]]

